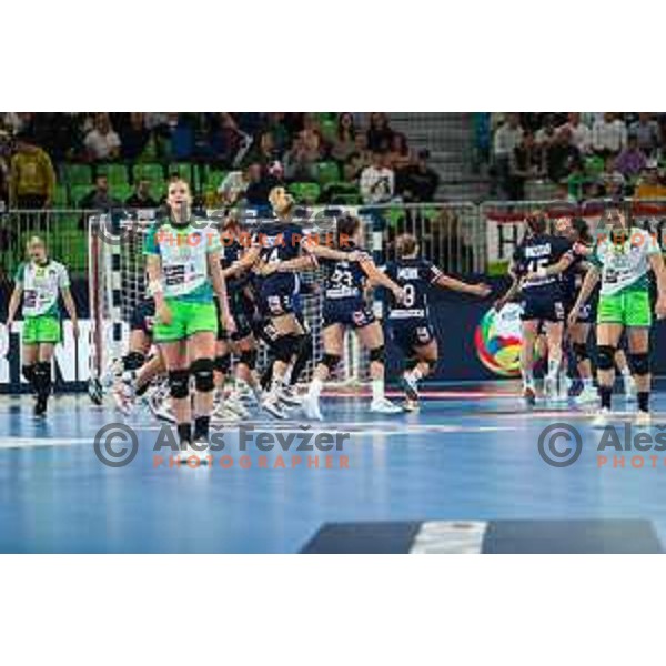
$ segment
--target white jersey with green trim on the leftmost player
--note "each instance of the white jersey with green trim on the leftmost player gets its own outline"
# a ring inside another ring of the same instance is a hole
[[[61,263],[51,260],[41,265],[33,261],[22,263],[17,271],[16,282],[23,290],[23,317],[60,317],[58,297],[61,290],[70,285],[67,269]]]

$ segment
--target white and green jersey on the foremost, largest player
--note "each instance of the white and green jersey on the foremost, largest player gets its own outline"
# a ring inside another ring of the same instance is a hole
[[[170,220],[155,223],[147,234],[143,253],[162,260],[165,299],[210,303],[213,285],[208,255],[221,251],[220,232],[210,220],[193,222],[186,226],[174,226]]]

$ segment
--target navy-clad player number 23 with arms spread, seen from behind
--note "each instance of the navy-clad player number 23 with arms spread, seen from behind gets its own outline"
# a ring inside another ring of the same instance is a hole
[[[307,245],[326,270],[322,324],[324,354],[315,367],[303,401],[303,411],[309,418],[322,418],[320,394],[324,381],[342,359],[344,333],[347,329],[355,331],[361,344],[370,352],[370,411],[382,414],[401,411],[384,394],[384,333],[365,302],[365,289],[369,283],[384,286],[397,302],[404,300],[405,293],[361,250],[361,222],[356,218],[346,215],[337,221],[337,249],[343,253],[342,260],[326,256],[324,252],[330,250],[327,248]]]

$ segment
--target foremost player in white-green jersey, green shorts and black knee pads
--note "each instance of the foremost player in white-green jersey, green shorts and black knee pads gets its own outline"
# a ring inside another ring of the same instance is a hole
[[[170,392],[181,443],[180,460],[208,463],[210,414],[218,326],[235,330],[220,268],[216,225],[192,216],[192,195],[182,179],[169,183],[169,218],[155,223],[144,253],[149,292],[155,301],[154,341],[169,373]],[[213,301],[220,303],[220,322]],[[194,427],[190,377],[194,379]]]

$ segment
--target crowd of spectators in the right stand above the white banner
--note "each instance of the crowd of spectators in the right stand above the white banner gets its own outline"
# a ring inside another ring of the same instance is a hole
[[[528,196],[534,182],[559,198],[666,198],[666,114],[504,113],[491,119],[495,193]]]

